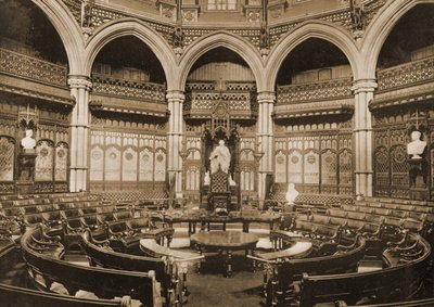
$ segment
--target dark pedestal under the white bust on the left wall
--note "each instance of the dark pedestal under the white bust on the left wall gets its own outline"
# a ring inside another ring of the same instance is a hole
[[[36,156],[35,150],[23,150],[18,154],[18,178],[16,180],[18,194],[34,193]]]

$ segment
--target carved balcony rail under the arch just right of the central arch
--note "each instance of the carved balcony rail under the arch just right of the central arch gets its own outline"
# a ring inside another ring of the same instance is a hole
[[[279,86],[277,104],[347,98],[352,95],[352,78],[341,78],[303,85]]]

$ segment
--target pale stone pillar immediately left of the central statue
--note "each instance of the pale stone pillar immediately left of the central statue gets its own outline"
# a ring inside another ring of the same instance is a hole
[[[180,152],[182,149],[182,129],[183,116],[182,104],[184,94],[182,91],[168,91],[166,94],[168,102],[169,132],[168,136],[168,176],[175,178],[175,195],[182,192],[182,157]]]

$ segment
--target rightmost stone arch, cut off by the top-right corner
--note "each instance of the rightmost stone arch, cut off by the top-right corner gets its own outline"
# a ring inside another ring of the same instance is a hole
[[[386,4],[375,14],[361,42],[361,68],[363,69],[361,74],[367,79],[375,78],[376,63],[381,49],[399,18],[417,4],[434,4],[434,0],[403,0],[390,1],[387,3],[388,5]]]

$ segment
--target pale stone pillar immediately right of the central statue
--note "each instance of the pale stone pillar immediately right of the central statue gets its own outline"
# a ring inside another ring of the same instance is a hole
[[[258,197],[260,205],[263,204],[266,191],[265,179],[267,174],[272,172],[272,149],[273,149],[273,121],[271,114],[275,107],[275,92],[259,92],[257,95],[258,125],[257,125],[257,153],[264,154],[259,161],[258,169]]]

